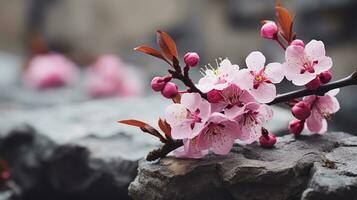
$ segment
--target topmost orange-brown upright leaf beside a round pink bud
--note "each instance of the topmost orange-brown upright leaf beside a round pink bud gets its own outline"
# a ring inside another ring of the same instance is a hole
[[[275,10],[277,23],[279,26],[279,32],[286,39],[286,41],[290,43],[293,39],[293,16],[286,8],[281,6],[279,1],[277,1],[277,6],[275,7]]]

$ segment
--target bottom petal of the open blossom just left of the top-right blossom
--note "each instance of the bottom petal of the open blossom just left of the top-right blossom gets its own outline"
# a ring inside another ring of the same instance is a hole
[[[260,103],[269,103],[276,97],[276,88],[274,84],[261,83],[257,89],[251,89],[250,93]]]

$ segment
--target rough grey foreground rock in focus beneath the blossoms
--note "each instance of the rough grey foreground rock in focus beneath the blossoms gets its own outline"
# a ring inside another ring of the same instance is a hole
[[[140,161],[133,199],[356,199],[357,139],[346,133],[236,145],[227,156]],[[340,141],[340,142],[339,142]]]

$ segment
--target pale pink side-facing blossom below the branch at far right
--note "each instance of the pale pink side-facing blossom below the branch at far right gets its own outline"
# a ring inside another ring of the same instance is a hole
[[[340,104],[335,97],[339,89],[331,90],[324,96],[311,95],[304,97],[311,109],[311,115],[306,119],[306,125],[309,131],[314,133],[325,133],[327,131],[326,118],[331,118],[331,115],[340,109]]]

